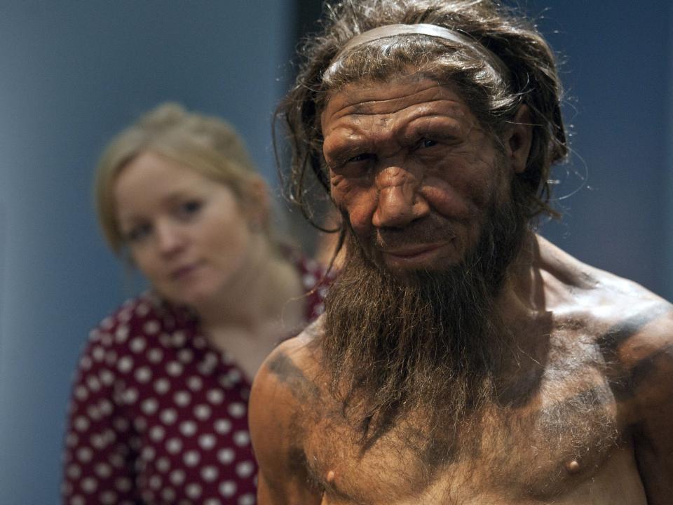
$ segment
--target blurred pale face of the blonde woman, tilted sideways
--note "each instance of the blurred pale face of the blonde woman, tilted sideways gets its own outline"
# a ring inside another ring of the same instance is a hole
[[[198,311],[245,266],[250,219],[226,184],[144,152],[117,177],[114,200],[135,264],[172,302]]]

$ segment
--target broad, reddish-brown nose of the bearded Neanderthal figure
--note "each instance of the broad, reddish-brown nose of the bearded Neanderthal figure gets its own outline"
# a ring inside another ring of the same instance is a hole
[[[390,166],[376,175],[378,201],[372,216],[377,228],[400,228],[428,215],[430,208],[419,194],[421,180],[404,168]]]

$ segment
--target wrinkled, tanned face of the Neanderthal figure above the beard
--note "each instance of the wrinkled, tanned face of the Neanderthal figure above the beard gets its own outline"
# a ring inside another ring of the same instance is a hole
[[[321,119],[332,198],[365,253],[393,273],[455,266],[475,248],[489,209],[510,198],[521,142],[498,149],[436,81],[353,83],[330,97]]]

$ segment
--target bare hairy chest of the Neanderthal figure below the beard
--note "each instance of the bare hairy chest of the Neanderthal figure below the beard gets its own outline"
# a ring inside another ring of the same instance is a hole
[[[364,452],[352,429],[322,419],[306,455],[323,503],[566,503],[600,481],[616,452],[634,468],[598,365],[548,363],[523,380],[532,382],[521,386],[530,389],[523,404],[494,404],[456,431],[430,433],[417,415],[421,421],[395,426]]]

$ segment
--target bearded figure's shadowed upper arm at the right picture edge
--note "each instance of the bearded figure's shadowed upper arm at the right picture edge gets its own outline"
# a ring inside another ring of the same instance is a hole
[[[651,504],[673,496],[673,312],[662,312],[625,349],[636,459]]]

